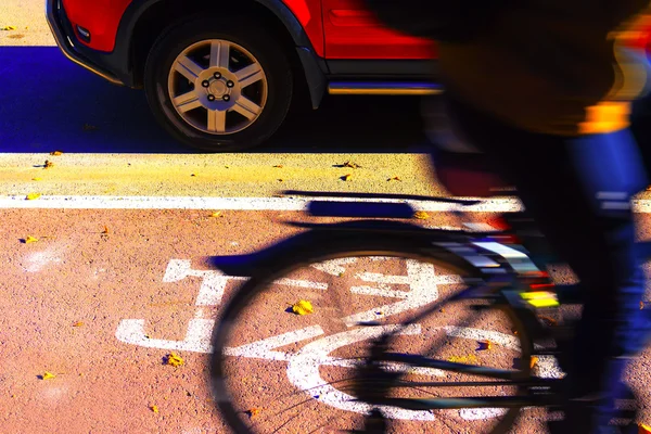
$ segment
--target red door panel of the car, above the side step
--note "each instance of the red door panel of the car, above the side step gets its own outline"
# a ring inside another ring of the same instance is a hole
[[[328,60],[426,60],[433,43],[391,30],[366,9],[362,0],[322,0]]]

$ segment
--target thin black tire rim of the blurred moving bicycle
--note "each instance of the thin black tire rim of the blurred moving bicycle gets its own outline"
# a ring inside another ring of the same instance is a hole
[[[242,409],[235,408],[232,401],[232,392],[224,365],[222,353],[228,345],[232,324],[242,316],[247,303],[264,292],[273,281],[283,276],[289,276],[293,270],[303,266],[323,260],[337,259],[347,256],[395,256],[412,258],[454,270],[460,276],[469,278],[481,277],[481,271],[471,266],[463,258],[441,247],[432,245],[426,239],[417,237],[405,237],[404,234],[356,231],[312,231],[310,242],[294,246],[292,251],[267,261],[257,270],[244,285],[227,303],[221,314],[221,319],[213,334],[213,355],[210,356],[210,385],[214,398],[219,411],[228,425],[240,434],[254,433],[242,417]],[[528,366],[531,358],[531,343],[526,330],[520,323],[518,317],[510,309],[506,309],[509,320],[518,331],[516,339],[520,341],[522,360]],[[528,370],[522,371],[522,376],[528,375]],[[516,388],[518,394],[524,393],[522,387]],[[493,431],[494,434],[507,432],[514,423],[520,408],[507,411],[501,421]]]

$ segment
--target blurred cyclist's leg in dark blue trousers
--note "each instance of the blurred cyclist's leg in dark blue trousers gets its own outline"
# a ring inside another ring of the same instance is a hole
[[[452,103],[452,107],[473,144],[501,166],[560,257],[587,288],[575,342],[580,375],[570,372],[574,392],[579,396],[604,390],[624,393],[618,380],[625,361],[612,357],[637,353],[650,327],[639,309],[643,280],[633,253],[631,210],[626,207],[644,182],[642,176],[634,176],[642,174],[633,169],[635,143],[626,131],[580,139],[534,135],[463,105]],[[577,159],[585,149],[616,153],[601,161]],[[588,176],[596,164],[607,176]],[[586,432],[589,412],[584,412],[584,420],[578,412],[571,419]]]

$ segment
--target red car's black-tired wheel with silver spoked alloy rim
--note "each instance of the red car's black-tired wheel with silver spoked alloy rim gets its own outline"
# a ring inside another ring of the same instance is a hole
[[[177,140],[209,152],[267,140],[286,116],[293,86],[283,47],[244,17],[171,26],[154,42],[144,67],[156,120]]]

